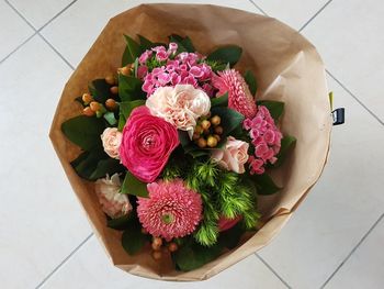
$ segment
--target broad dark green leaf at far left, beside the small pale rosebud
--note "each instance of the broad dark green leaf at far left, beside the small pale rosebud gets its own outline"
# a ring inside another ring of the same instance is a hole
[[[61,131],[68,140],[84,151],[101,145],[100,135],[104,129],[103,120],[86,115],[75,116],[61,124]]]

